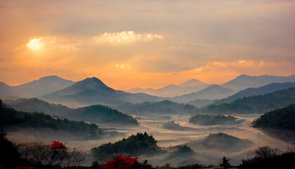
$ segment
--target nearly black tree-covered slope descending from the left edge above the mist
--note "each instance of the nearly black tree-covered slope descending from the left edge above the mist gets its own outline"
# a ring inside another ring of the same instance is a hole
[[[1,100],[0,110],[1,125],[6,129],[11,126],[21,128],[32,127],[36,129],[48,128],[54,131],[63,130],[65,132],[90,134],[91,136],[96,136],[103,132],[103,130],[94,123],[89,124],[83,121],[67,120],[66,118],[56,119],[44,113],[15,111],[15,109],[8,108],[6,105],[2,104]]]

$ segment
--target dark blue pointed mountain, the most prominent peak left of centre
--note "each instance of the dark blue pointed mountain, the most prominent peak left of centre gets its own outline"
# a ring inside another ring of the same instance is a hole
[[[131,103],[140,103],[143,101],[157,101],[160,98],[148,94],[138,93],[131,94],[120,90],[107,87],[96,77],[86,78],[73,84],[70,87],[47,94],[43,97],[45,101],[59,102],[63,104],[78,103],[86,104],[107,104],[117,105],[124,101]]]

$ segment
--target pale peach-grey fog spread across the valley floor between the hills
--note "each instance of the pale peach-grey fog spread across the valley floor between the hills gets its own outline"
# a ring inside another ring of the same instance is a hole
[[[54,132],[52,130],[30,130],[21,129],[13,130],[8,132],[7,137],[12,142],[31,142],[31,141],[41,141],[51,143],[53,141],[66,142],[66,145],[70,148],[76,147],[80,151],[86,152],[86,161],[84,165],[91,165],[92,161],[95,159],[92,157],[91,149],[93,147],[100,146],[100,144],[108,142],[116,142],[123,137],[129,137],[131,134],[136,134],[137,132],[147,132],[147,134],[152,134],[157,140],[157,145],[162,147],[162,149],[168,151],[166,154],[153,154],[153,155],[142,155],[139,156],[139,161],[147,159],[152,165],[165,165],[166,163],[171,163],[172,166],[185,165],[189,163],[202,163],[202,164],[212,164],[218,165],[223,156],[230,158],[230,163],[232,165],[238,165],[241,163],[242,158],[249,158],[253,156],[253,150],[258,148],[258,146],[273,146],[280,148],[282,151],[287,151],[287,148],[294,148],[291,143],[283,142],[280,139],[275,139],[267,134],[256,130],[256,128],[251,127],[251,122],[260,117],[260,115],[236,115],[237,118],[245,119],[246,121],[241,125],[192,125],[188,123],[188,119],[191,115],[150,115],[150,116],[134,116],[138,118],[137,127],[120,127],[107,130],[123,133],[119,136],[114,137],[102,137],[100,139],[86,139],[84,137],[73,136],[72,134],[67,134],[65,132]],[[179,123],[182,127],[191,127],[194,130],[176,131],[163,129],[161,126],[167,121],[174,120]],[[102,128],[110,128],[112,125],[98,124]],[[183,156],[183,158],[171,158],[170,153],[172,152],[173,146],[181,145],[190,142],[195,142],[197,140],[202,140],[204,137],[208,136],[210,133],[223,132],[230,134],[234,137],[240,139],[249,139],[254,142],[253,146],[247,148],[240,147],[239,149],[229,149],[225,151],[218,151],[218,149],[202,149],[199,146],[190,146],[190,148],[195,151],[192,156]]]

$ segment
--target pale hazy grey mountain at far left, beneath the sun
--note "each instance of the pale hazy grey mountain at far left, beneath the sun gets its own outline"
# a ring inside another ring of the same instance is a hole
[[[0,96],[18,96],[23,98],[39,97],[74,84],[71,80],[62,79],[56,75],[41,77],[18,86],[9,86],[0,82]]]

